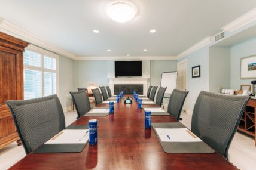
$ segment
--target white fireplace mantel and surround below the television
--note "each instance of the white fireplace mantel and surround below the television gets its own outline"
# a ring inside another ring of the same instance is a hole
[[[148,85],[150,84],[150,78],[141,77],[127,77],[127,78],[109,78],[109,88],[112,94],[114,94],[114,84],[143,84],[143,93],[147,94]]]

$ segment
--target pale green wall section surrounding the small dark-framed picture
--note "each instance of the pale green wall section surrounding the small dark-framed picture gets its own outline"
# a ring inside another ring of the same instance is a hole
[[[192,113],[200,91],[209,91],[209,46],[194,51],[193,53],[178,60],[178,62],[185,59],[187,59],[188,62],[187,90],[189,93],[186,99],[187,111],[188,113]],[[201,66],[201,76],[200,78],[192,78],[192,67],[198,65]]]

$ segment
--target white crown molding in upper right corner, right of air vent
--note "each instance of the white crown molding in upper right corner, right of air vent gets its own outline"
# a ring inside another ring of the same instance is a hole
[[[256,8],[252,9],[251,11],[248,11],[247,13],[243,14],[239,18],[236,18],[235,20],[231,21],[231,23],[228,23],[221,29],[229,32],[233,32],[239,29],[240,27],[243,27],[255,20],[256,20]]]

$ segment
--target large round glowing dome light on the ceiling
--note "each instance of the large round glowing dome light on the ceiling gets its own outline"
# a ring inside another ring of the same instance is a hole
[[[125,2],[114,2],[106,9],[106,14],[118,23],[126,23],[132,20],[137,13],[135,5]]]

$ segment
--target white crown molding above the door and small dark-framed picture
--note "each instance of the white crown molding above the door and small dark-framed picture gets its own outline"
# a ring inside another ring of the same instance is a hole
[[[176,58],[177,60],[181,59],[182,57],[185,57],[186,55],[191,54],[192,52],[199,50],[202,47],[205,47],[206,45],[211,44],[211,36],[206,37],[205,39],[202,39],[202,41],[197,42],[197,44],[193,45],[192,47],[188,48],[187,50],[181,52]]]

